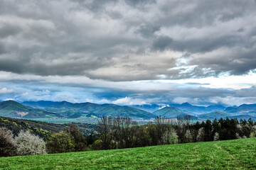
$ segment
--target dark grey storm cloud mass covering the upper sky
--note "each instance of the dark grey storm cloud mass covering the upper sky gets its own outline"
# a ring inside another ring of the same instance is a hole
[[[252,0],[0,4],[0,71],[132,81],[256,68]],[[180,62],[184,54],[189,60]]]

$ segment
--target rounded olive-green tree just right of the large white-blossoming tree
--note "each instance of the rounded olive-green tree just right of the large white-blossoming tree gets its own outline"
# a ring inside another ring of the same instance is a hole
[[[50,154],[75,152],[75,140],[68,132],[54,132],[47,138],[46,147]]]

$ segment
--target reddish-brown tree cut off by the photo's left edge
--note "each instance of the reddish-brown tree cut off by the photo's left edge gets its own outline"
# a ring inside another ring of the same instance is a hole
[[[11,130],[0,128],[0,157],[10,157],[16,154],[16,142]]]

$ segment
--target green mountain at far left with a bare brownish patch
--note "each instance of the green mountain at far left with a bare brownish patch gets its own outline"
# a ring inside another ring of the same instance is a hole
[[[16,101],[0,102],[0,115],[10,118],[46,118],[47,115],[61,117],[58,113],[51,113],[29,106],[23,106]]]

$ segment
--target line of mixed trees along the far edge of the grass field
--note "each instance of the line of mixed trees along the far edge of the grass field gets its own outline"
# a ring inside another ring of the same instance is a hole
[[[189,116],[175,120],[159,116],[146,125],[138,125],[132,118],[103,116],[97,127],[95,132],[85,136],[75,124],[70,124],[46,138],[28,130],[21,130],[14,136],[11,130],[0,127],[0,157],[256,137],[256,122],[251,119],[220,118],[195,123]]]

